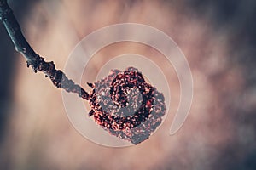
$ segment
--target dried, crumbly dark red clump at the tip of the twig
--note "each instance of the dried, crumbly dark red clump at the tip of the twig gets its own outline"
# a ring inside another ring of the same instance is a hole
[[[136,68],[113,70],[108,77],[88,85],[92,88],[89,116],[108,133],[139,144],[162,122],[164,95]]]

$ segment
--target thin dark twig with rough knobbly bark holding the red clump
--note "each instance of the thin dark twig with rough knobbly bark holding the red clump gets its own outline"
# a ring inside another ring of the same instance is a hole
[[[15,45],[15,50],[26,58],[27,67],[32,66],[32,70],[35,72],[44,72],[45,77],[49,77],[56,88],[63,88],[67,92],[79,94],[79,97],[83,99],[89,99],[89,94],[84,88],[68,79],[62,71],[55,69],[53,61],[45,62],[43,57],[35,53],[23,36],[20,25],[15,19],[12,9],[9,8],[7,0],[0,0],[0,20],[8,31],[9,37]]]

